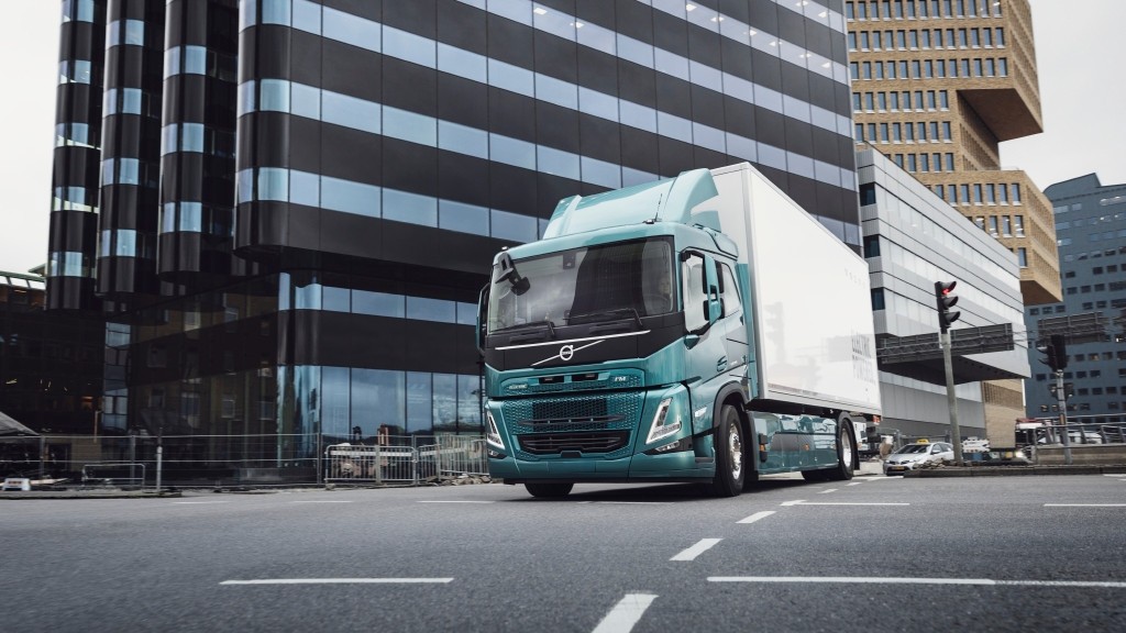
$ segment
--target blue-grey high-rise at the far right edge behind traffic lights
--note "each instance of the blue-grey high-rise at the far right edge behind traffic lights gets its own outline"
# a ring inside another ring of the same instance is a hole
[[[1045,344],[1053,331],[1064,336],[1072,422],[1126,422],[1126,185],[1102,185],[1089,173],[1044,194],[1055,214],[1064,293],[1060,303],[1026,309],[1028,330]],[[1058,402],[1048,390],[1055,373],[1029,348],[1028,417],[1056,418]]]

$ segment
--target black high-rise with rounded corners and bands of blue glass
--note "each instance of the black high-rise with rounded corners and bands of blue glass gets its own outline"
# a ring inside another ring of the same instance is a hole
[[[184,462],[479,431],[477,293],[565,196],[750,161],[859,252],[842,8],[65,0],[48,307]]]

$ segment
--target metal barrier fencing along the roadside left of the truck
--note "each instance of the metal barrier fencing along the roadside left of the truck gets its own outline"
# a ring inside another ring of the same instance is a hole
[[[316,435],[0,437],[0,478],[42,484],[172,488],[414,485],[488,473],[481,436]],[[158,458],[159,453],[159,458]]]

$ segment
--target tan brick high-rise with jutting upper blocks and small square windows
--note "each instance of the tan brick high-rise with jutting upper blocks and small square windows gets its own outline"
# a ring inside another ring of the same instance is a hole
[[[856,140],[1012,251],[1026,305],[1058,301],[1052,205],[999,150],[1043,132],[1028,1],[857,0],[844,15]],[[1021,384],[982,390],[990,437],[1009,444]]]

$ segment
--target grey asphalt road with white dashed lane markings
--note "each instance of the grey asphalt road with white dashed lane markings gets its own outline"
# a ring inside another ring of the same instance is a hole
[[[0,501],[0,631],[1126,631],[1126,475]]]

